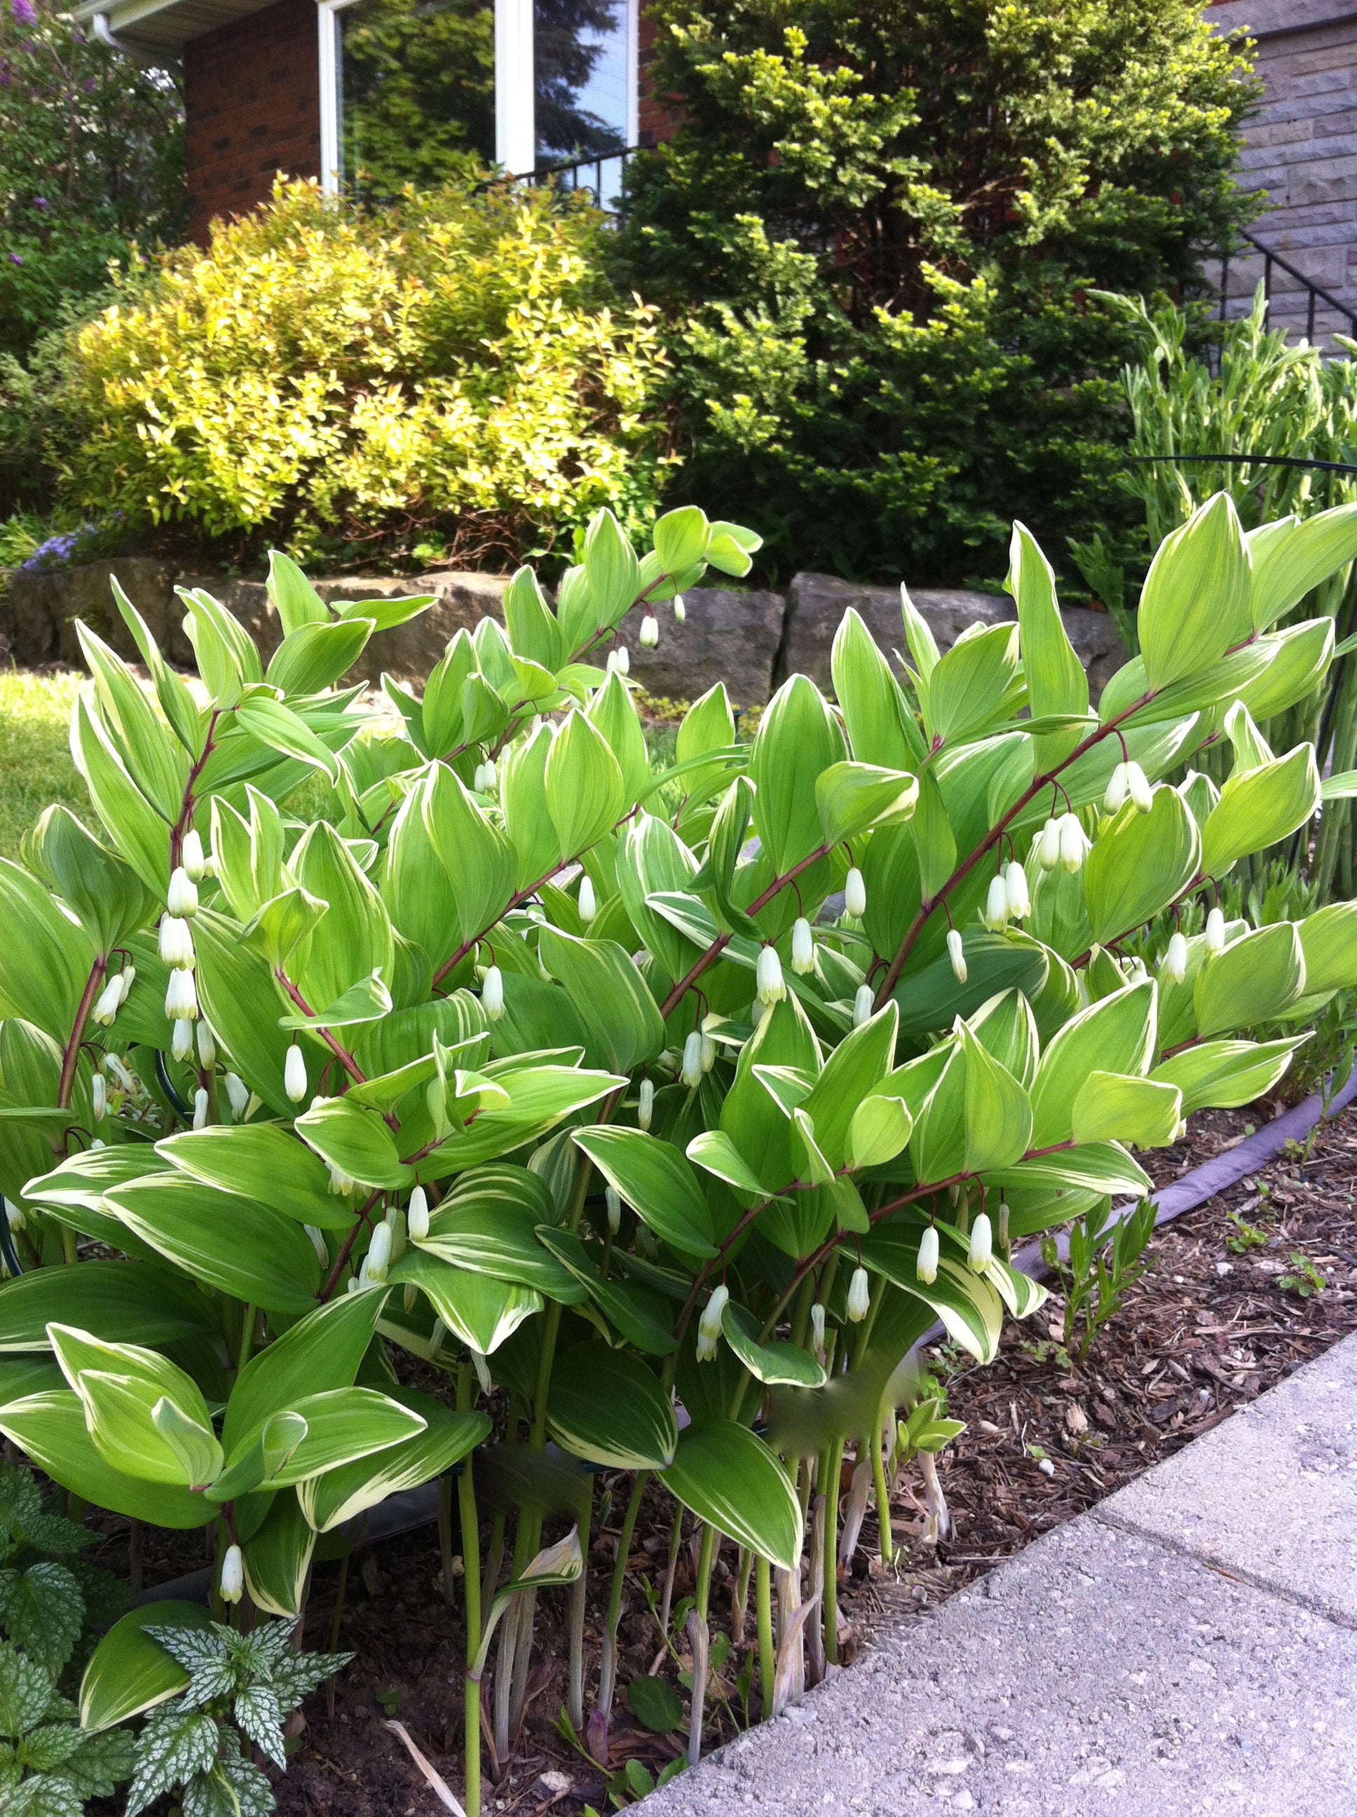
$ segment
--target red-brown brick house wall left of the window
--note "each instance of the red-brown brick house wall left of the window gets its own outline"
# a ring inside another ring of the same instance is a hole
[[[243,214],[276,171],[320,176],[316,0],[278,0],[183,47],[189,233]]]

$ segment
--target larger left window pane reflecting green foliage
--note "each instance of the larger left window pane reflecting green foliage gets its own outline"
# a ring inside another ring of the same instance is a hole
[[[494,162],[492,0],[354,0],[340,22],[340,176],[391,196]]]

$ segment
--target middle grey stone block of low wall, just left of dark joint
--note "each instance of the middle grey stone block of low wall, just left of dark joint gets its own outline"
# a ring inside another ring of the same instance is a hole
[[[659,645],[641,649],[641,611],[621,621],[630,674],[647,694],[698,700],[725,681],[738,707],[763,707],[774,690],[774,663],[783,641],[787,603],[779,592],[736,592],[694,587],[683,596],[687,618],[674,623],[669,605],[656,607]]]

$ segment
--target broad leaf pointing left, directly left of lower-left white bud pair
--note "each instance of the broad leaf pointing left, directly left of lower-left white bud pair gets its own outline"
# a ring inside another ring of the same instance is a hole
[[[104,1203],[194,1281],[271,1312],[311,1312],[320,1261],[305,1230],[282,1212],[214,1192],[187,1174],[153,1174]]]

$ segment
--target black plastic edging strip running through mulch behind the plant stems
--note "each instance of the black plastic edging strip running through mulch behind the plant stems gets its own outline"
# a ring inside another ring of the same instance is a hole
[[[1328,1116],[1335,1117],[1341,1110],[1357,1099],[1357,1068],[1341,1092],[1335,1094],[1332,1105],[1328,1107]],[[1184,1212],[1194,1212],[1199,1205],[1213,1199],[1217,1194],[1226,1192],[1230,1187],[1237,1187],[1241,1179],[1248,1174],[1257,1172],[1266,1161],[1286,1147],[1288,1141],[1303,1141],[1310,1130],[1324,1117],[1324,1099],[1321,1092],[1312,1092],[1304,1103],[1299,1103],[1295,1110],[1288,1110],[1284,1116],[1275,1117],[1272,1123],[1255,1130],[1253,1136],[1246,1136],[1233,1148],[1226,1148],[1223,1154],[1213,1156],[1201,1167],[1195,1167],[1183,1179],[1174,1181],[1172,1187],[1161,1187],[1154,1194],[1155,1210],[1155,1230],[1161,1225],[1172,1225],[1175,1217]],[[1139,1201],[1128,1199],[1124,1205],[1117,1205],[1112,1210],[1114,1223],[1121,1223],[1135,1210]],[[1112,1230],[1112,1225],[1108,1225]],[[1055,1246],[1065,1261],[1070,1254],[1070,1239],[1066,1236],[1055,1237]],[[1028,1243],[1014,1256],[1014,1268],[1026,1274],[1034,1281],[1041,1281],[1050,1272],[1046,1263],[1041,1259],[1041,1243]],[[919,1352],[925,1345],[937,1343],[946,1332],[943,1325],[934,1325],[923,1334],[923,1337],[914,1345]],[[683,1425],[679,1415],[679,1425]],[[363,1534],[362,1523],[367,1519],[367,1532]],[[403,1490],[400,1495],[391,1495],[380,1506],[372,1508],[367,1515],[356,1515],[351,1523],[351,1537],[358,1544],[374,1544],[381,1539],[400,1539],[401,1534],[412,1534],[420,1526],[431,1526],[438,1519],[438,1490],[432,1483],[425,1483],[423,1488]],[[198,1572],[189,1572],[185,1577],[174,1577],[169,1583],[156,1584],[153,1590],[144,1590],[140,1603],[165,1603],[171,1599],[183,1599],[187,1603],[205,1603],[213,1590],[213,1568],[203,1566]]]

